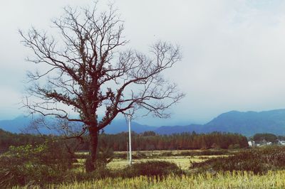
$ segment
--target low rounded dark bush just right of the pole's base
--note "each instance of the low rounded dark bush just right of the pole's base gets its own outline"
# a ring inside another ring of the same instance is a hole
[[[164,176],[169,174],[181,175],[183,171],[175,164],[168,161],[146,161],[135,163],[125,168],[123,177],[135,177],[140,175],[146,176]]]

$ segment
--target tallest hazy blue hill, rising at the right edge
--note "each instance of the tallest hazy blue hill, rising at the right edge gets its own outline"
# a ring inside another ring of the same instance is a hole
[[[256,133],[285,135],[285,109],[264,112],[227,112],[204,125],[204,131],[226,131],[252,136]]]

